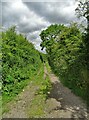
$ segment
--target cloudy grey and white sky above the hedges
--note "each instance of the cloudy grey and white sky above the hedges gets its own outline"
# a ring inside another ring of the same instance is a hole
[[[36,49],[41,50],[39,34],[51,24],[68,25],[78,21],[76,0],[2,0],[2,26],[16,25]]]

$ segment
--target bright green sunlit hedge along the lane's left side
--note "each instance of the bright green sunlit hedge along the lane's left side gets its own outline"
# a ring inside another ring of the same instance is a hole
[[[15,32],[15,27],[2,32],[2,95],[18,94],[39,70],[42,62],[35,50],[23,35]],[[3,99],[4,99],[3,98]]]

